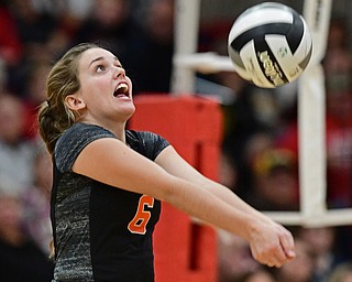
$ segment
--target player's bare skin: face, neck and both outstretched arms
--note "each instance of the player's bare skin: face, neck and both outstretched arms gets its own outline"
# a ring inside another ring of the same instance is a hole
[[[112,53],[103,48],[84,52],[78,78],[80,89],[65,102],[79,113],[78,121],[101,126],[118,139],[103,138],[88,144],[73,165],[75,173],[167,202],[208,225],[239,235],[261,263],[278,268],[295,257],[294,239],[287,229],[228,187],[201,175],[172,145],[152,162],[125,144],[125,124],[135,110],[132,84]],[[114,89],[121,83],[128,86],[128,95],[116,97]]]

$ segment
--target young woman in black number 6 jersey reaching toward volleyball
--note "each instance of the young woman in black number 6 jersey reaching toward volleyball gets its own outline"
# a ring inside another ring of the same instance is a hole
[[[38,121],[54,164],[55,281],[154,281],[161,202],[241,236],[261,263],[295,257],[284,227],[202,176],[162,137],[125,130],[132,84],[111,52],[73,47],[46,94]]]

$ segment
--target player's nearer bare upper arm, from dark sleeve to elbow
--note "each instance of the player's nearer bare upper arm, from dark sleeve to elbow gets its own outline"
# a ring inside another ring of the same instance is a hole
[[[72,170],[108,185],[163,199],[172,188],[172,175],[118,139],[89,143]]]

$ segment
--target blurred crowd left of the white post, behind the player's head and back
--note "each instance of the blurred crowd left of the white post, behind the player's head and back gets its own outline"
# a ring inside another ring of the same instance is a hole
[[[134,94],[167,94],[173,21],[173,0],[0,1],[0,281],[52,278],[52,163],[36,126],[52,64],[97,42],[119,56]]]

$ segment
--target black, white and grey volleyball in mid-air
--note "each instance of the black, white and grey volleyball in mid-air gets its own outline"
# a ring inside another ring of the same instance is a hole
[[[312,53],[305,19],[294,9],[265,2],[245,10],[234,21],[228,41],[234,70],[262,88],[297,79]]]

